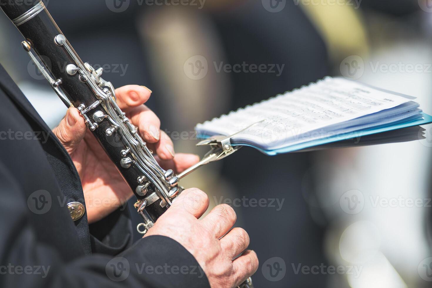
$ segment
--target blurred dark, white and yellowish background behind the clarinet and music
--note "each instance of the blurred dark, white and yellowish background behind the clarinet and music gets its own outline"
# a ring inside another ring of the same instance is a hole
[[[431,0],[45,3],[104,79],[152,89],[147,104],[176,152],[206,152],[195,147],[197,123],[324,76],[416,96],[432,112]],[[12,23],[0,17],[0,25],[0,62],[55,127],[64,104]],[[219,69],[243,63],[267,68]],[[260,259],[257,288],[430,287],[432,130],[425,128],[427,139],[406,143],[274,157],[244,148],[182,185],[206,191],[210,206],[233,203]]]

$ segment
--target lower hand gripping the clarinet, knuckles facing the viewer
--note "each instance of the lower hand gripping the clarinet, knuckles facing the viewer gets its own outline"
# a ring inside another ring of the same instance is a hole
[[[218,205],[198,220],[208,206],[206,193],[196,188],[184,190],[144,237],[163,235],[174,239],[197,259],[211,287],[236,287],[257,271],[257,254],[246,250],[249,235],[245,230],[230,231],[236,220],[230,206]]]

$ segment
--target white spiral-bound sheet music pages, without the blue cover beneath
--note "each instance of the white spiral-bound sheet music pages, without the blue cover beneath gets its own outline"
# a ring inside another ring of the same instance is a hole
[[[337,132],[336,127],[349,127],[349,120],[366,115],[364,121],[367,123],[379,122],[382,117],[388,119],[392,114],[384,110],[403,103],[407,103],[405,111],[418,107],[409,98],[391,92],[343,78],[327,78],[198,124],[195,129],[210,135],[229,136],[261,121],[235,135],[232,142],[276,149],[327,137],[329,133]],[[380,111],[383,112],[377,113]],[[403,112],[397,111],[393,116],[399,114],[400,117]],[[356,123],[362,127],[364,124]]]

